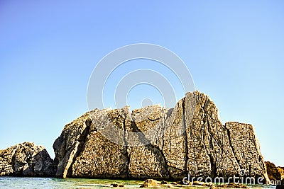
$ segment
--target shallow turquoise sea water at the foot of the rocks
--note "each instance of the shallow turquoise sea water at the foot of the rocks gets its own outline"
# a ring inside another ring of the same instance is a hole
[[[124,188],[139,188],[143,181],[121,181],[109,179],[85,179],[85,178],[24,178],[24,177],[0,177],[0,188],[113,188],[111,183],[123,184]],[[249,185],[253,189],[272,189],[271,185]],[[121,187],[118,187],[121,188]],[[165,185],[164,188],[168,188]],[[178,188],[178,187],[175,187]],[[202,186],[182,186],[190,189],[208,189]]]

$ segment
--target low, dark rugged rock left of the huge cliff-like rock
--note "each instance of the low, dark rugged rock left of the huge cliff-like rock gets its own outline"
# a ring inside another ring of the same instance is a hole
[[[48,151],[31,142],[0,150],[0,176],[55,176],[55,169]]]

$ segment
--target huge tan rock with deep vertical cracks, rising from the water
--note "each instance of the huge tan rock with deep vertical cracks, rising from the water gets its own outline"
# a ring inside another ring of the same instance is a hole
[[[109,141],[99,132],[102,127],[121,140]],[[129,134],[148,130],[136,138]],[[128,145],[133,142],[146,145]],[[199,91],[187,93],[170,109],[92,110],[67,124],[53,148],[56,176],[63,178],[227,178],[244,169],[246,176],[268,179],[253,126],[222,125],[213,101]]]

